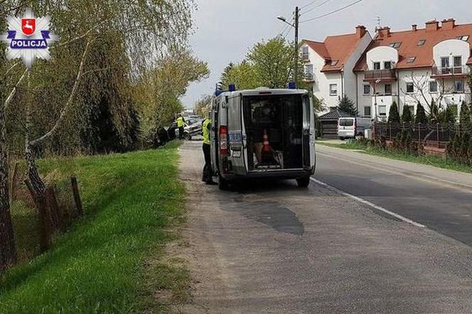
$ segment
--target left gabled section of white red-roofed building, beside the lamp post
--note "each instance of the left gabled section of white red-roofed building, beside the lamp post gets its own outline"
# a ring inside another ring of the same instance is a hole
[[[336,107],[340,97],[356,98],[354,67],[372,37],[364,26],[355,33],[328,36],[323,42],[303,40],[301,58],[306,62],[306,81],[311,83],[313,94],[323,99],[326,109]]]

